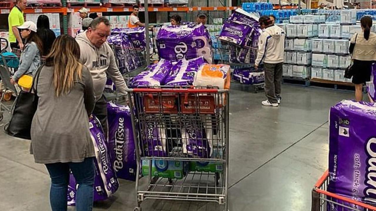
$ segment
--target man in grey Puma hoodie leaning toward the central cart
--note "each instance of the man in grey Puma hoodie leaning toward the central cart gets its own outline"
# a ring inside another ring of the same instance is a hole
[[[127,94],[127,85],[121,75],[114,52],[106,43],[110,35],[110,22],[104,17],[94,19],[88,30],[78,34],[76,41],[80,46],[80,60],[88,67],[94,85],[96,105],[93,114],[100,120],[105,134],[107,133],[107,102],[103,96],[107,75],[115,83],[120,94]]]

